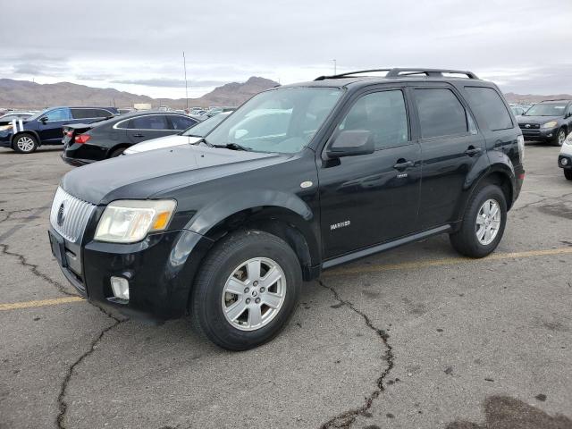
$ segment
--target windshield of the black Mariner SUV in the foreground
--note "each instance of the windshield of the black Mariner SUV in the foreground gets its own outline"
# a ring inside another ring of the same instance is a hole
[[[214,146],[294,154],[307,146],[341,97],[338,88],[278,88],[252,97],[208,135]]]

